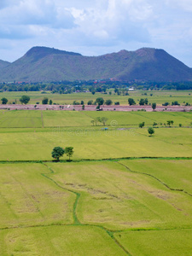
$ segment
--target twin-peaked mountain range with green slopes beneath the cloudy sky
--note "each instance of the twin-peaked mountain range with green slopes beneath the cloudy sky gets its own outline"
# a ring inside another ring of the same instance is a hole
[[[143,48],[100,56],[83,56],[79,53],[37,46],[27,51],[19,60],[8,63],[4,67],[0,66],[2,82],[90,79],[137,79],[157,82],[192,80],[192,69],[163,49]]]

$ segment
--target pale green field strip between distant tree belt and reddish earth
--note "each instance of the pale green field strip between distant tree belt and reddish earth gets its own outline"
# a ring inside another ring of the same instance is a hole
[[[147,96],[143,95],[144,93],[147,93]],[[6,97],[8,98],[9,102],[15,102],[16,99],[17,103],[20,103],[20,97],[23,95],[28,95],[31,98],[31,104],[35,104],[36,102],[40,102],[41,104],[43,98],[46,96],[57,104],[73,104],[73,101],[84,101],[84,103],[87,104],[88,101],[95,101],[97,97],[102,96],[105,101],[111,99],[113,103],[120,102],[120,105],[127,105],[129,97],[133,98],[137,104],[141,98],[147,97],[148,103],[156,102],[158,105],[162,105],[162,103],[165,102],[172,104],[172,102],[175,101],[179,102],[181,105],[184,105],[186,102],[192,104],[192,90],[134,90],[129,91],[129,94],[129,96],[118,96],[116,94],[114,95],[113,93],[112,95],[106,95],[99,92],[92,95],[91,93],[85,92],[73,94],[52,94],[48,92],[47,94],[42,94],[40,91],[30,91],[27,93],[25,91],[6,91],[0,92],[0,99]],[[153,94],[153,96],[150,96],[150,94]]]

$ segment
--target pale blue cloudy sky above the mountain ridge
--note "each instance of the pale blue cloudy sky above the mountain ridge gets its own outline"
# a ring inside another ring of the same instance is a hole
[[[192,67],[192,0],[0,0],[0,60],[33,46],[91,56],[151,47]]]

